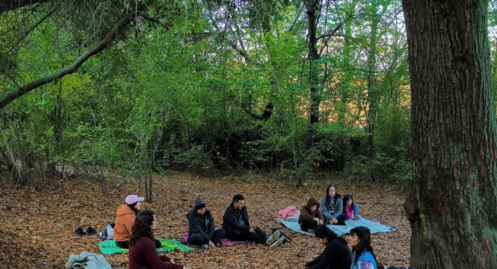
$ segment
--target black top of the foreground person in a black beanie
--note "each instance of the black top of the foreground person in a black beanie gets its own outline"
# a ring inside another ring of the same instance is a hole
[[[314,261],[306,264],[308,269],[350,269],[352,253],[347,244],[338,239],[328,242],[325,250]]]

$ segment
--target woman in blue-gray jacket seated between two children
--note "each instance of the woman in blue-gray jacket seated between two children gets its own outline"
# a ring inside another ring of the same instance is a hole
[[[341,196],[336,193],[336,188],[329,185],[326,194],[321,198],[321,213],[325,224],[345,225],[347,214],[343,213],[343,202]]]

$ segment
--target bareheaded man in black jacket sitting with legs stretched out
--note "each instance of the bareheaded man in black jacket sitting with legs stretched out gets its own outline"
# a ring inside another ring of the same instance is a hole
[[[229,240],[255,242],[270,247],[277,246],[285,239],[284,236],[280,237],[279,230],[267,235],[259,227],[250,227],[245,198],[241,194],[235,195],[233,202],[226,208],[223,229],[226,231],[225,238]]]

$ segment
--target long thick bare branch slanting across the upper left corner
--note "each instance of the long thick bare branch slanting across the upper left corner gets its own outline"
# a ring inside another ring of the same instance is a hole
[[[144,3],[140,3],[137,11],[140,12],[142,11],[146,5]],[[131,12],[128,11],[129,13],[126,14],[123,18],[117,22],[114,27],[107,33],[104,39],[102,39],[97,45],[93,46],[91,49],[85,51],[76,61],[73,62],[69,67],[65,67],[55,74],[48,75],[45,77],[42,77],[36,81],[33,81],[29,84],[26,84],[16,91],[10,93],[7,97],[3,98],[0,101],[0,109],[3,109],[6,105],[8,105],[10,102],[15,100],[16,98],[21,97],[22,95],[32,91],[33,89],[36,89],[42,85],[48,84],[56,79],[60,79],[64,77],[65,75],[72,74],[76,72],[82,65],[83,63],[88,60],[91,56],[99,53],[100,51],[104,50],[105,48],[109,47],[112,43],[113,40],[118,39],[121,34],[124,32],[124,29],[130,25],[133,20],[136,18],[136,12]]]

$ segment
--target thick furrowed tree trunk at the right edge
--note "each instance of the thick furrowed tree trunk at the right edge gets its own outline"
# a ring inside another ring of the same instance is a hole
[[[486,0],[403,0],[412,88],[413,269],[497,268]]]

